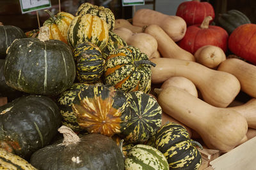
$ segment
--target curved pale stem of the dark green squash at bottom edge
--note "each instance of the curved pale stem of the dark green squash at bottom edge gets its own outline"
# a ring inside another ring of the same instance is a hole
[[[77,136],[77,134],[72,131],[72,129],[70,129],[69,127],[62,125],[58,131],[63,134],[63,141],[61,143],[61,145],[69,145],[71,143],[77,143],[80,141],[80,138]]]

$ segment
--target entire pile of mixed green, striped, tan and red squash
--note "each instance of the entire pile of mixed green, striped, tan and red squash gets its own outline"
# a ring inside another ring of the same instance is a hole
[[[202,145],[256,136],[256,26],[240,11],[45,12],[38,30],[0,25],[1,168],[199,169]]]

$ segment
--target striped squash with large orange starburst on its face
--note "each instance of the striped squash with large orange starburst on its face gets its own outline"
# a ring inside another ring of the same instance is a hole
[[[72,103],[77,123],[89,133],[119,134],[130,118],[128,96],[109,85],[89,85]]]

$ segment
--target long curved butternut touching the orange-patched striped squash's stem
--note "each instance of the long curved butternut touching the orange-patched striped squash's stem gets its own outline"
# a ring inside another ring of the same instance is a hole
[[[212,106],[226,108],[240,91],[237,78],[223,71],[209,69],[197,62],[179,59],[150,59],[152,83],[163,83],[171,76],[184,76],[191,80],[202,94],[204,101]]]

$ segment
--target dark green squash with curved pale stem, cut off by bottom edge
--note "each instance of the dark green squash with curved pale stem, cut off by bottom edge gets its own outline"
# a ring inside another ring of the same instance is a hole
[[[33,153],[30,163],[42,170],[49,169],[124,169],[120,148],[113,139],[102,134],[77,136],[61,126],[63,140]]]

